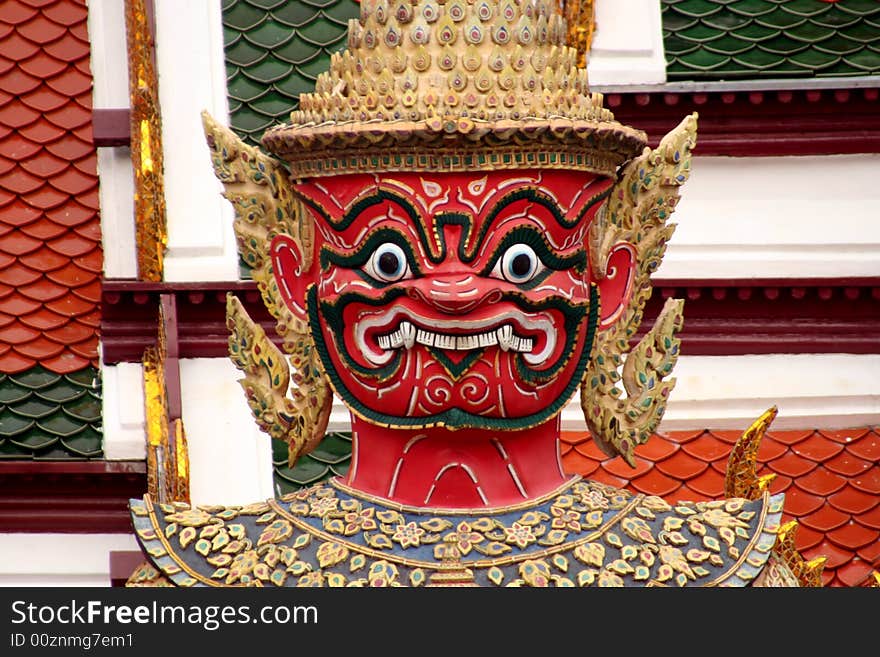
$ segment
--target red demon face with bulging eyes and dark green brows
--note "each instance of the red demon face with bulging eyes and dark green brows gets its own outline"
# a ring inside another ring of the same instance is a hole
[[[586,245],[610,185],[572,171],[308,181],[296,191],[315,217],[313,264],[301,271],[279,236],[275,276],[333,389],[367,421],[535,426],[590,357],[600,315]]]

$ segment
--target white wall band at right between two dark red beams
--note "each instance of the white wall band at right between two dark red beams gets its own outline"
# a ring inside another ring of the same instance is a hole
[[[880,276],[878,172],[880,154],[696,155],[656,276]]]

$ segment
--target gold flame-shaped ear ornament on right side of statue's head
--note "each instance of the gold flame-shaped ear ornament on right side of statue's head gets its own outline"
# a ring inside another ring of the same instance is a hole
[[[668,299],[653,328],[632,352],[630,340],[651,296],[650,277],[660,266],[675,229],[668,222],[680,187],[690,175],[696,139],[694,113],[656,149],[645,148],[623,167],[607,207],[591,227],[590,259],[597,279],[605,277],[608,254],[615,244],[634,247],[636,262],[626,309],[596,338],[594,357],[581,384],[581,408],[596,444],[609,456],[622,456],[632,467],[635,448],[657,428],[675,385],[675,379],[665,377],[678,360],[684,302]]]

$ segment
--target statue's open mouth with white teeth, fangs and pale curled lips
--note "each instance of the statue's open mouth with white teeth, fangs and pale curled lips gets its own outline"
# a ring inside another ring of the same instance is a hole
[[[556,329],[546,313],[511,311],[484,320],[438,320],[395,308],[369,315],[355,333],[363,355],[384,365],[398,349],[415,345],[446,351],[474,351],[497,346],[523,355],[531,365],[545,362],[556,348]]]

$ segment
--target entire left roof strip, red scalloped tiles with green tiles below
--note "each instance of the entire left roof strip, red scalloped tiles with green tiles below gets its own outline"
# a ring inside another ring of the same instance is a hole
[[[102,455],[87,15],[0,3],[0,459]]]

